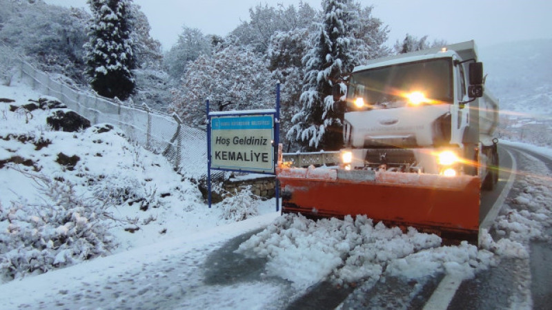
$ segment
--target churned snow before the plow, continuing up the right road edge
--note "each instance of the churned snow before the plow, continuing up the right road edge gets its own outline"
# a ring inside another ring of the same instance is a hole
[[[480,233],[480,248],[462,242],[441,246],[435,235],[387,228],[358,216],[345,220],[308,220],[282,216],[239,248],[249,255],[268,258],[267,272],[282,275],[305,288],[331,280],[337,285],[366,282],[380,277],[420,279],[439,273],[473,278],[503,259],[530,258],[533,240],[551,240],[552,185],[547,167],[536,158],[522,158],[520,172],[491,231]]]

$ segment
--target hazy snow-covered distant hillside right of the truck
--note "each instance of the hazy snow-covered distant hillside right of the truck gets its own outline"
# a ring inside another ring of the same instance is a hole
[[[486,89],[500,99],[499,136],[552,145],[552,39],[480,48]]]

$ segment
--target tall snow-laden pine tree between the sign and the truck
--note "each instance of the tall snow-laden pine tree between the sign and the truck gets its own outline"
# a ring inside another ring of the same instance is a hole
[[[303,58],[302,110],[293,117],[295,125],[287,135],[308,151],[342,147],[343,112],[334,108],[332,87],[355,65],[351,21],[357,14],[351,10],[350,1],[324,0],[322,7],[324,20],[315,32],[313,47]]]

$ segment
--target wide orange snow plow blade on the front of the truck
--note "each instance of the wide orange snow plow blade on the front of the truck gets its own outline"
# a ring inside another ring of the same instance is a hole
[[[402,229],[477,245],[480,179],[435,174],[277,168],[282,211],[311,218],[365,214]]]

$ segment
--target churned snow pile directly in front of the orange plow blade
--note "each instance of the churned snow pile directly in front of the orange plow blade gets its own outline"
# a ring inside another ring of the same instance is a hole
[[[304,289],[328,278],[337,285],[377,282],[391,276],[420,278],[438,272],[471,277],[493,264],[493,254],[462,242],[441,247],[441,238],[409,228],[373,225],[366,216],[318,221],[286,214],[238,249],[269,258],[267,272]]]

